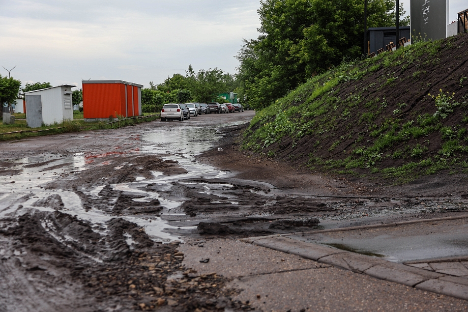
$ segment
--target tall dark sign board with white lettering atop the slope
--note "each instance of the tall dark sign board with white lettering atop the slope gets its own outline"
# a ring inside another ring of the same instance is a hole
[[[411,35],[442,39],[447,34],[449,0],[411,0]]]

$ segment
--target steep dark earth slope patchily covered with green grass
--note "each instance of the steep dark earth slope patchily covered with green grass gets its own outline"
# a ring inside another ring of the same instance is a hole
[[[343,63],[258,111],[243,148],[312,170],[399,182],[442,170],[466,174],[466,68],[468,35]]]

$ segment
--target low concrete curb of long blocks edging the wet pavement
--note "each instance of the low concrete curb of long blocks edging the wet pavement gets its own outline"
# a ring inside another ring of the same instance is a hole
[[[319,263],[333,265],[378,279],[401,283],[420,290],[468,300],[468,278],[436,273],[376,257],[298,241],[284,236],[252,237],[242,239],[242,241],[286,253],[297,254]]]

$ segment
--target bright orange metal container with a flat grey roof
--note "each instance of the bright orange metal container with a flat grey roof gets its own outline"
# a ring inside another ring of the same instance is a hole
[[[141,84],[122,80],[83,80],[85,121],[141,115]]]

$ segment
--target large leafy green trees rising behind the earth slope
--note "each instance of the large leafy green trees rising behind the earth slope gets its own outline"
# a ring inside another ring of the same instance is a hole
[[[395,0],[367,0],[367,26],[395,26]],[[400,6],[400,25],[409,25]],[[260,35],[237,59],[239,94],[255,108],[363,55],[364,0],[261,0]]]

